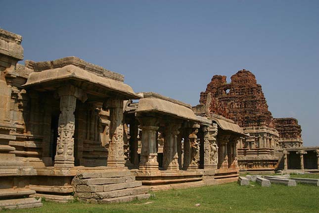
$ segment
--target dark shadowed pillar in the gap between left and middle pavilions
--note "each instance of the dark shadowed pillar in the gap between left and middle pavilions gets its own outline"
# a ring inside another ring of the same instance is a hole
[[[138,125],[137,121],[134,119],[130,123],[130,156],[131,156],[131,163],[135,166],[138,166],[138,141],[137,141],[137,134],[138,134]]]

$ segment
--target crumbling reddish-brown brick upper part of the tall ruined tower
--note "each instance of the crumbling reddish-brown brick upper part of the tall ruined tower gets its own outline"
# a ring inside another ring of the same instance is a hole
[[[272,113],[255,75],[248,70],[239,70],[227,83],[226,76],[214,75],[206,91],[200,94],[200,104],[206,104],[211,94],[210,112],[223,115],[241,127],[274,127]]]

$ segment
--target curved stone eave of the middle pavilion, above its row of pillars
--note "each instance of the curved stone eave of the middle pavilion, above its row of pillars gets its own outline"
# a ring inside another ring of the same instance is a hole
[[[136,113],[137,116],[153,113],[160,115],[169,115],[171,117],[180,118],[182,120],[200,122],[191,108],[172,103],[167,100],[156,98],[140,99],[138,102]]]

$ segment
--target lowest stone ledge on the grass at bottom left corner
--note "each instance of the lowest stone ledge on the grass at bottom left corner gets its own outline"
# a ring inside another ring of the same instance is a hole
[[[37,200],[35,198],[21,198],[21,199],[12,199],[12,200],[1,200],[0,201],[0,210],[1,209],[26,209],[26,208],[35,208],[42,207],[41,199]]]

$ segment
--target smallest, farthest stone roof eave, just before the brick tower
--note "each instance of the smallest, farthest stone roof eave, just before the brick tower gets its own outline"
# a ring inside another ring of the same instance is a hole
[[[232,120],[218,115],[213,115],[211,119],[215,121],[217,125],[226,132],[235,133],[242,137],[249,136],[249,134],[245,134],[244,130],[239,125],[235,124]]]

